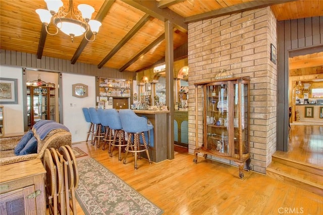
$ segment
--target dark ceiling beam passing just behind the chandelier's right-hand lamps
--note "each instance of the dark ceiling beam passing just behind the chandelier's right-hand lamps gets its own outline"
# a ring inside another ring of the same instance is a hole
[[[111,6],[114,4],[115,0],[108,0],[108,1],[104,1],[102,4],[102,7],[100,8],[100,10],[97,12],[96,16],[95,16],[95,20],[102,22],[102,20],[104,19],[104,17],[106,16],[107,12],[109,12]],[[92,31],[88,31],[86,33],[86,37],[87,38],[91,38],[93,35]],[[74,56],[71,59],[71,64],[75,64],[77,59],[80,57],[83,49],[85,48],[86,44],[88,43],[88,41],[86,40],[86,38],[83,38],[79,47],[76,49]]]

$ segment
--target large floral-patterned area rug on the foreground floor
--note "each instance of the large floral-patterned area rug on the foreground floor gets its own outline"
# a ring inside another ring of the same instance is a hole
[[[76,198],[85,214],[163,214],[118,176],[93,158],[77,161]]]

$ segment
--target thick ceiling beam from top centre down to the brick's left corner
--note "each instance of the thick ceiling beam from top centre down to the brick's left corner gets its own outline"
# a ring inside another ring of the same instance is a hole
[[[164,9],[158,8],[157,1],[139,1],[139,0],[122,0],[122,1],[163,22],[165,22],[166,20],[169,20],[170,22],[174,23],[174,26],[177,29],[179,29],[184,33],[187,32],[187,24],[184,23],[183,21],[184,18],[178,15],[177,13],[175,13],[174,11],[170,10],[169,8],[164,8]]]

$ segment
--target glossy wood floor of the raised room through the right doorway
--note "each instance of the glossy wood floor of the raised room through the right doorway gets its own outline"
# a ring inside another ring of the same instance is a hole
[[[323,126],[291,125],[288,152],[276,154],[319,167],[323,167]]]

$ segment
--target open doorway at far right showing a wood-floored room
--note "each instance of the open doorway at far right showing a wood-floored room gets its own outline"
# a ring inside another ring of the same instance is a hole
[[[323,52],[289,57],[289,138],[284,158],[320,162],[323,139]],[[322,110],[322,111],[321,111]]]

